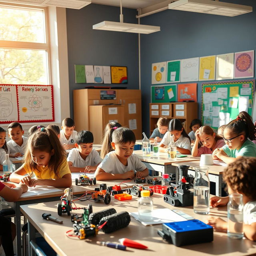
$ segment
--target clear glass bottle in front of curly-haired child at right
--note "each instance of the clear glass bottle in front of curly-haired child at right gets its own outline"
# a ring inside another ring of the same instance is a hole
[[[230,194],[228,202],[228,237],[242,239],[243,232],[243,195]]]

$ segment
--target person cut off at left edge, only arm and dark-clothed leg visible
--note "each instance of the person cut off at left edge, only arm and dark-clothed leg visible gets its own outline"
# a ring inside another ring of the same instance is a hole
[[[0,181],[0,211],[2,210],[2,197],[8,202],[15,202],[26,191],[28,191],[28,187],[25,184],[20,183],[16,186]],[[0,246],[2,244],[6,256],[13,256],[12,241],[16,236],[15,224],[0,214],[0,227]]]

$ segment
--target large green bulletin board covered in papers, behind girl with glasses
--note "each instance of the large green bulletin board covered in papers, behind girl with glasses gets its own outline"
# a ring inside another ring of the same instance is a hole
[[[217,130],[241,111],[251,116],[254,86],[255,80],[202,84],[202,123]]]

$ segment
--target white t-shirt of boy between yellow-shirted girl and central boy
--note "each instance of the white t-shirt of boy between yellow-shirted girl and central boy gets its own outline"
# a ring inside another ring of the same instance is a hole
[[[72,162],[74,167],[83,168],[85,166],[95,166],[96,164],[102,162],[99,153],[93,148],[90,154],[84,160],[79,154],[78,148],[72,148],[68,154],[68,162]]]

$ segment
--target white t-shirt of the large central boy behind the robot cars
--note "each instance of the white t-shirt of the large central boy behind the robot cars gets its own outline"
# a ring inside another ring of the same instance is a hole
[[[113,173],[113,174],[123,174],[125,172],[128,172],[130,170],[134,170],[137,172],[141,172],[146,169],[146,165],[143,164],[138,156],[135,154],[132,154],[127,159],[127,166],[124,166],[120,162],[120,160],[117,158],[115,151],[111,151],[104,157],[103,161],[98,166],[105,172]]]

